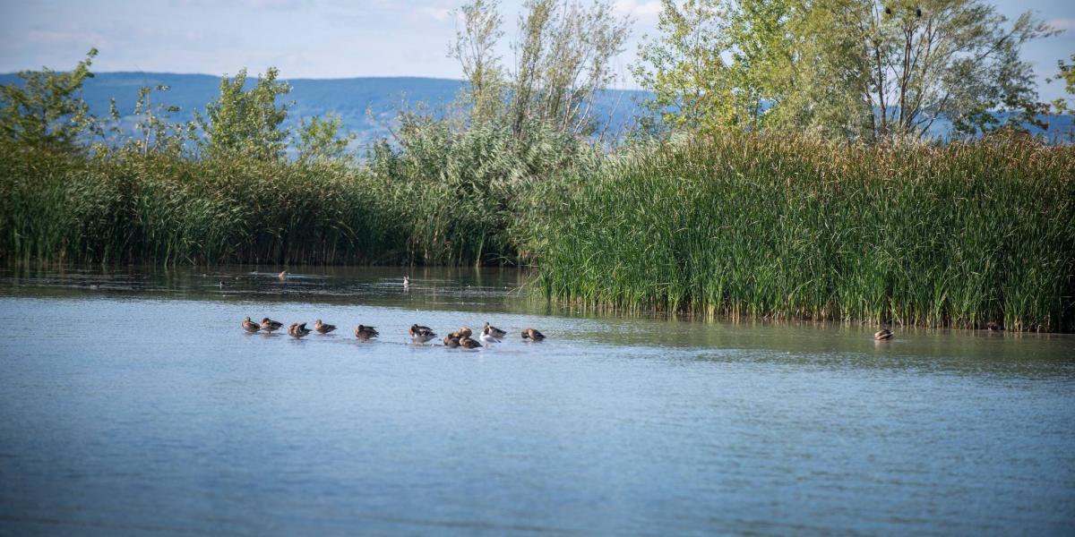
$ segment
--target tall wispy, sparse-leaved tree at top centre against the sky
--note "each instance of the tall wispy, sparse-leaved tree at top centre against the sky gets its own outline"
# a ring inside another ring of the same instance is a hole
[[[448,56],[469,82],[471,121],[503,120],[518,139],[534,125],[561,134],[594,130],[593,100],[614,79],[612,59],[628,37],[628,18],[612,4],[529,0],[512,43],[513,72],[500,63],[494,47],[503,35],[496,0],[472,0],[457,12],[462,28]]]

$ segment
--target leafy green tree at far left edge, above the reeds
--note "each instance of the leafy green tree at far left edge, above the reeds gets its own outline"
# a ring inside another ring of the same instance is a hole
[[[20,71],[22,86],[0,86],[0,133],[5,140],[57,150],[75,150],[81,136],[99,131],[82,99],[82,83],[97,49],[67,73],[48,68]]]

